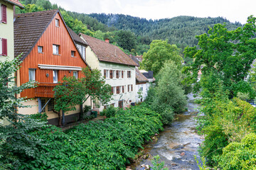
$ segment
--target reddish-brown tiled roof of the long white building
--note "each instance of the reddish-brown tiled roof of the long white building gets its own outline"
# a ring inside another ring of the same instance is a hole
[[[82,33],[80,33],[80,35],[92,48],[92,51],[101,62],[113,62],[117,64],[137,66],[136,62],[134,62],[128,55],[119,49],[119,47],[112,45],[109,42],[92,38],[89,35]]]

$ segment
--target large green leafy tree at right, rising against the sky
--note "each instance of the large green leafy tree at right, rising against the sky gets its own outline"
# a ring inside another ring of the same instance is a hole
[[[203,66],[202,74],[214,72],[223,79],[225,89],[230,96],[238,92],[251,93],[250,88],[243,88],[244,78],[256,58],[255,19],[250,16],[242,28],[228,30],[225,24],[216,24],[208,30],[208,34],[198,35],[198,47],[186,47],[185,57],[194,58],[194,63],[187,69],[193,72],[190,78],[196,80],[198,71]],[[249,87],[249,85],[246,85]],[[250,94],[253,98],[255,94]]]

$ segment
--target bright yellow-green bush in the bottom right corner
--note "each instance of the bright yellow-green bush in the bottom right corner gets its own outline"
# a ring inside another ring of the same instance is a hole
[[[241,142],[232,142],[223,149],[219,157],[222,169],[256,169],[256,135],[250,133]]]

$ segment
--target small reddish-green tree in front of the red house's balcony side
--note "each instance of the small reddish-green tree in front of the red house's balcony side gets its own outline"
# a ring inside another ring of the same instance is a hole
[[[82,69],[85,77],[64,77],[63,84],[55,86],[55,111],[58,111],[59,125],[61,125],[60,111],[64,114],[68,111],[75,111],[76,105],[82,105],[90,96],[95,101],[105,104],[111,98],[111,86],[105,84],[105,79],[97,69]],[[64,119],[63,119],[64,123]]]

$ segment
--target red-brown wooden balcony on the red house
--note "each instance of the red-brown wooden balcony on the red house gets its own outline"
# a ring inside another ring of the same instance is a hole
[[[43,97],[43,98],[53,98],[54,97],[54,87],[58,86],[59,84],[55,83],[39,83],[35,89],[35,96],[36,97]]]

